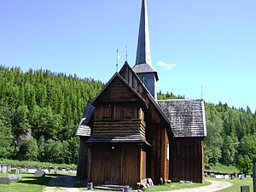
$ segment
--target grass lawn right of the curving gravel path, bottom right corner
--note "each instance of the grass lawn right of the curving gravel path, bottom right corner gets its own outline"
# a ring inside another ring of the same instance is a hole
[[[208,179],[208,178],[207,178]],[[209,178],[209,180],[216,180],[215,178]],[[250,187],[250,191],[253,191],[253,178],[245,178],[245,179],[218,179],[221,181],[226,181],[232,183],[232,187],[228,189],[220,190],[221,192],[240,192],[240,187],[242,185],[248,185]]]

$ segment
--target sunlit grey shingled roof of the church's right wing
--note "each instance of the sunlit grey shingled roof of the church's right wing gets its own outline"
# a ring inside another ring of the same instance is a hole
[[[207,137],[203,100],[174,99],[157,102],[170,120],[174,137]]]

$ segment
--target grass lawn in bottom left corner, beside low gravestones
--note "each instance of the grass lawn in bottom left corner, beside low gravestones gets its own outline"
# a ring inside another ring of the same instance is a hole
[[[8,177],[9,174],[0,174],[0,177]],[[20,181],[11,181],[10,184],[0,184],[0,192],[41,192],[49,182],[50,175],[35,177],[34,174],[21,173]]]

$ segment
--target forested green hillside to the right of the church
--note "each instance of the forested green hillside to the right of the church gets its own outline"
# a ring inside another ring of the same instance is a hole
[[[207,137],[204,142],[206,166],[234,165],[252,172],[256,163],[256,115],[251,109],[230,108],[226,103],[206,103]]]

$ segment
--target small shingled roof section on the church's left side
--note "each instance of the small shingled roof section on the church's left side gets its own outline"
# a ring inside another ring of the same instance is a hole
[[[89,123],[93,113],[94,113],[94,107],[91,105],[91,101],[88,101],[84,109],[83,117],[79,124],[79,129],[76,134],[77,136],[90,137],[90,126],[88,126],[87,124]]]

